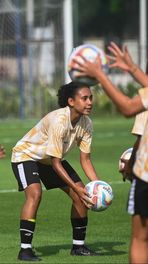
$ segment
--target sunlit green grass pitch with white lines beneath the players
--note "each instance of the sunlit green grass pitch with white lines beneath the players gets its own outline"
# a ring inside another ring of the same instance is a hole
[[[132,147],[136,137],[131,135],[134,118],[122,116],[92,119],[94,132],[91,159],[100,180],[111,185],[114,200],[108,210],[88,211],[88,227],[85,244],[103,257],[70,256],[72,227],[71,203],[60,189],[43,190],[39,206],[32,246],[42,258],[41,263],[128,263],[131,237],[131,216],[126,213],[130,182],[122,181],[118,172],[119,158]],[[11,153],[16,142],[37,121],[5,121],[0,123],[0,142],[6,148],[6,158],[0,160],[0,263],[23,263],[17,260],[20,250],[19,221],[25,195],[18,192],[18,185],[11,169]],[[80,175],[84,184],[89,182],[79,162],[76,146],[67,161]],[[24,262],[26,263],[26,262]],[[30,262],[34,263],[34,262]]]

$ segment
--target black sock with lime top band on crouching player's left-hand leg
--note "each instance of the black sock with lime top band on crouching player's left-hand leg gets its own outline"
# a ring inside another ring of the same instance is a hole
[[[35,231],[34,222],[28,220],[20,220],[21,243],[31,244],[34,231]]]

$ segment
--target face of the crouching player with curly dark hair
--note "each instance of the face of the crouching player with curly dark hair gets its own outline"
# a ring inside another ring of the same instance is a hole
[[[73,109],[80,115],[89,115],[93,106],[92,93],[88,87],[79,89],[73,100]]]

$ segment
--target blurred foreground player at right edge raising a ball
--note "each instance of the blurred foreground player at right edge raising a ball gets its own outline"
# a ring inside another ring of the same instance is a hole
[[[89,76],[96,78],[126,117],[148,110],[148,76],[133,63],[126,45],[124,46],[124,53],[114,42],[111,42],[111,46],[108,49],[115,55],[114,57],[107,55],[114,62],[110,68],[120,67],[129,71],[135,80],[145,86],[145,88],[139,89],[138,96],[129,98],[112,84],[102,70],[99,55],[94,63],[87,61],[83,56],[81,57],[85,63],[78,62],[75,59],[79,66],[73,68],[81,71],[77,74],[77,77]],[[127,205],[127,212],[132,215],[130,263],[144,264],[148,263],[148,121],[140,140],[138,157],[134,163],[133,172],[134,179]]]

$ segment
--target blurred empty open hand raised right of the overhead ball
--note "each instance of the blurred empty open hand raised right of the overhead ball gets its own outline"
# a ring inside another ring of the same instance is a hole
[[[126,71],[132,71],[133,67],[135,67],[135,64],[132,61],[132,58],[130,57],[130,54],[127,50],[127,45],[125,44],[123,49],[124,52],[122,52],[119,47],[113,42],[110,42],[111,46],[108,46],[108,50],[111,51],[115,56],[109,56],[106,55],[106,57],[110,60],[112,60],[114,63],[109,65],[109,68],[113,67],[119,67]]]

